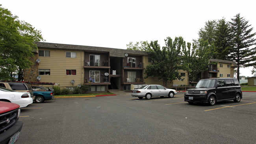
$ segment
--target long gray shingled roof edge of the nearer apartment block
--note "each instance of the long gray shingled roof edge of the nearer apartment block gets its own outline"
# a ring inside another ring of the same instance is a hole
[[[56,44],[56,43],[47,43],[47,42],[35,42],[35,44],[37,45],[37,47],[40,47],[40,48],[109,52],[110,57],[125,57],[124,56],[125,53],[128,53],[128,55],[129,54],[131,54],[131,55],[148,55],[148,53],[145,51],[115,49],[115,48],[109,48],[109,47],[80,46],[80,45]]]

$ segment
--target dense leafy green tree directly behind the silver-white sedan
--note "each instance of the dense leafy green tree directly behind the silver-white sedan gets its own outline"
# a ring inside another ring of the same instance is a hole
[[[167,39],[165,39],[165,47],[160,49],[158,41],[151,41],[149,44],[149,52],[152,65],[147,66],[145,69],[147,77],[152,76],[163,79],[165,86],[167,86],[168,82],[181,79],[178,70],[181,69],[179,64],[183,42],[182,37],[175,37],[174,41],[170,37],[167,37]]]

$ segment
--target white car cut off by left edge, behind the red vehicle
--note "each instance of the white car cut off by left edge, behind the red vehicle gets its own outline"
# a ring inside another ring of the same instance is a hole
[[[33,103],[33,98],[30,93],[17,92],[0,87],[0,101],[19,104],[20,108],[24,108]]]

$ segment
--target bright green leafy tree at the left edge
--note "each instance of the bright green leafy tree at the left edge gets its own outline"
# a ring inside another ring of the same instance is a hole
[[[0,5],[1,6],[1,5]],[[32,64],[36,41],[44,41],[41,31],[18,20],[8,9],[0,7],[0,77],[2,80],[23,80],[23,69]]]

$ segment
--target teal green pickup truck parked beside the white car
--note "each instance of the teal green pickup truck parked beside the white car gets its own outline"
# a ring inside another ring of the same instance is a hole
[[[32,86],[33,95],[35,96],[35,103],[42,103],[45,100],[54,99],[54,92],[51,87],[40,87],[40,86]]]

